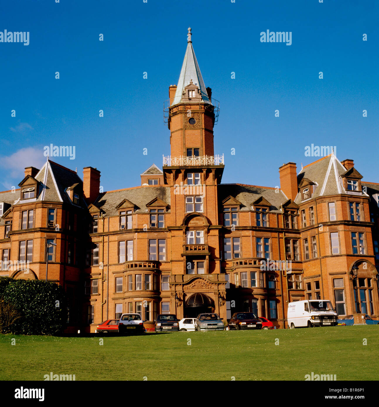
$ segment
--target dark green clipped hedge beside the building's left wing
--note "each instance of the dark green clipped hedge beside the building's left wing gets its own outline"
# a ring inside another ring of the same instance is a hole
[[[0,301],[1,333],[55,335],[66,327],[66,293],[58,284],[0,277]],[[18,318],[9,324],[10,313]]]

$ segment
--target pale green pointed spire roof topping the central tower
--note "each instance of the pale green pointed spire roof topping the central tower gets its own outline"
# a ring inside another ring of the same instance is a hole
[[[192,41],[191,41],[191,28],[188,28],[188,42],[187,49],[184,55],[184,61],[182,65],[182,70],[180,71],[179,81],[177,83],[177,88],[175,92],[175,97],[172,105],[180,103],[182,101],[182,94],[184,88],[189,85],[191,79],[195,85],[200,88],[202,94],[202,101],[204,103],[210,103],[208,98],[208,92],[204,85],[203,77],[200,72],[199,64],[195,56],[195,51],[193,50]]]

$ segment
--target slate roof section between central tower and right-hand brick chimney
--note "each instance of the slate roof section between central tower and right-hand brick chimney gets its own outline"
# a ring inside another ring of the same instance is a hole
[[[241,202],[241,211],[251,210],[251,204],[262,196],[270,202],[270,212],[281,213],[281,205],[288,200],[288,198],[281,190],[279,190],[279,192],[275,192],[275,188],[268,188],[264,186],[245,184],[220,184],[217,187],[217,190],[219,202],[222,202],[229,195],[231,195]]]

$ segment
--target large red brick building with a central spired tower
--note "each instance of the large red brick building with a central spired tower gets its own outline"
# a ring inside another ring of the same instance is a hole
[[[283,164],[280,188],[222,184],[217,117],[189,31],[169,87],[162,169],[148,168],[141,186],[99,192],[96,168],[83,181],[50,160],[25,168],[20,188],[0,193],[0,275],[44,279],[48,256],[72,330],[127,312],[152,326],[158,313],[206,311],[252,311],[282,328],[291,301],[330,299],[339,315],[356,313],[356,281],[361,311],[377,317],[379,184],[334,153],[298,174]]]

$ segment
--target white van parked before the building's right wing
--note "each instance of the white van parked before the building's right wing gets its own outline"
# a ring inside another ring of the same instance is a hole
[[[299,328],[300,326],[335,326],[337,314],[334,312],[329,300],[304,300],[289,302],[287,311],[288,326]]]

